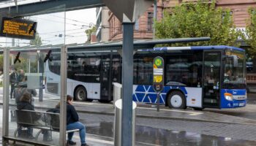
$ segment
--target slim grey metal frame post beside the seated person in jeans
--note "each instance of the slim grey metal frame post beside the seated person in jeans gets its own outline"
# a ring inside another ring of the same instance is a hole
[[[67,46],[61,47],[61,111],[59,127],[59,145],[66,143],[67,126]]]

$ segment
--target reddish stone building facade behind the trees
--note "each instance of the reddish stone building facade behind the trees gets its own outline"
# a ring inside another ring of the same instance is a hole
[[[162,19],[164,9],[175,7],[177,4],[185,2],[196,2],[197,0],[159,0],[157,2],[157,20]],[[212,0],[208,0],[211,2]],[[255,0],[216,0],[216,7],[222,7],[230,9],[230,15],[233,15],[233,21],[238,31],[245,31],[246,23],[249,22],[249,8],[256,7]],[[154,28],[154,7],[153,5],[147,9],[147,11],[140,16],[135,22],[134,39],[153,39]],[[108,38],[108,41],[117,41],[122,39],[122,26],[121,22],[113,15],[113,12],[108,10],[109,36],[108,33],[102,34]],[[104,18],[104,19],[106,19]],[[106,22],[106,21],[105,21]],[[100,40],[100,39],[98,39]],[[105,39],[106,41],[107,39]]]

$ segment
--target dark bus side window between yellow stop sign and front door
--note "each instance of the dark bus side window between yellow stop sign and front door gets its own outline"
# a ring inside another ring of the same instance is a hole
[[[201,87],[202,61],[201,51],[173,53],[166,58],[166,85],[187,85]]]

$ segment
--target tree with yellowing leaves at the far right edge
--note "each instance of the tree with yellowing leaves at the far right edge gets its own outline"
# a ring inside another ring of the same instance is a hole
[[[246,25],[246,36],[244,36],[245,42],[250,46],[247,48],[246,53],[255,58],[256,56],[256,13],[255,10],[249,9],[251,20],[248,20]]]

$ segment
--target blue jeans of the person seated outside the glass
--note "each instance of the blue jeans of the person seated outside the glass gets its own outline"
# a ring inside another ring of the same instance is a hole
[[[86,143],[86,126],[84,126],[83,123],[80,123],[80,122],[69,123],[69,125],[67,125],[67,130],[74,130],[74,129],[79,129],[81,144],[85,144]],[[74,135],[74,132],[70,132],[69,134],[67,134],[67,140],[71,141],[73,135]]]

